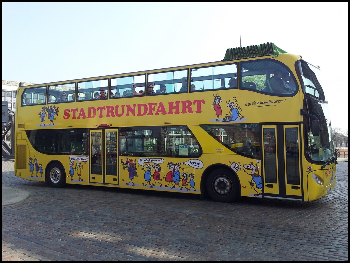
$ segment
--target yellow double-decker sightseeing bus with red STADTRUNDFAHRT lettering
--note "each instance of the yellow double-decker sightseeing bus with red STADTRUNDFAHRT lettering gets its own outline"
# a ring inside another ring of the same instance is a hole
[[[320,69],[273,43],[222,61],[19,87],[15,176],[311,201],[335,187]]]

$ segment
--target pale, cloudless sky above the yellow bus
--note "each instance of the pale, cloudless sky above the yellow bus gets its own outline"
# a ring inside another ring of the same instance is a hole
[[[348,129],[348,2],[2,2],[2,80],[47,83],[221,61],[272,42],[320,66]]]

